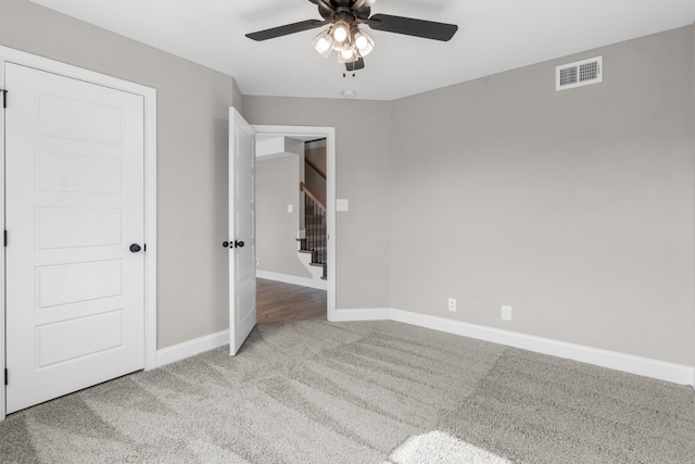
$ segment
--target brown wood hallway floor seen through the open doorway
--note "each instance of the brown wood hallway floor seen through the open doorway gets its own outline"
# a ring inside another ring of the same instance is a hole
[[[326,290],[256,278],[256,321],[326,321]]]

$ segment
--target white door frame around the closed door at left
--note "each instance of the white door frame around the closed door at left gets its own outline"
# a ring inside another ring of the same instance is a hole
[[[144,369],[156,367],[156,90],[139,84],[0,46],[0,89],[4,89],[4,63],[60,74],[87,83],[142,96],[144,100]],[[12,108],[12,89],[8,108]],[[1,96],[0,96],[1,97]],[[0,111],[0,221],[4,224],[4,111]],[[0,421],[5,417],[5,296],[4,250],[0,253]],[[10,378],[10,381],[12,379]]]

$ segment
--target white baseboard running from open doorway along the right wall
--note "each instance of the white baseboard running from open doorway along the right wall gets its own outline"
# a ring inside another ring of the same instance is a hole
[[[447,334],[470,337],[478,340],[520,348],[523,350],[534,351],[536,353],[549,354],[557,358],[608,367],[615,371],[695,387],[695,366],[667,363],[649,358],[640,358],[615,351],[584,347],[581,344],[566,343],[564,341],[552,340],[548,338],[467,324],[392,308],[336,310],[331,317],[331,321],[334,322],[380,319],[396,321]]]

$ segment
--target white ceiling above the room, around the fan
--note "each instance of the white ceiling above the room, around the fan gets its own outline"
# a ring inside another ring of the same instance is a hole
[[[393,100],[686,26],[695,0],[378,0],[371,13],[457,24],[448,42],[371,30],[355,77],[311,40],[244,34],[320,20],[308,0],[31,0],[235,77],[243,95]]]

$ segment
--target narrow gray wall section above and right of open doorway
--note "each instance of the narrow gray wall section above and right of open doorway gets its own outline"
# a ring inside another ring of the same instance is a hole
[[[251,124],[336,127],[336,299],[341,308],[389,305],[390,103],[305,98],[243,98]]]

